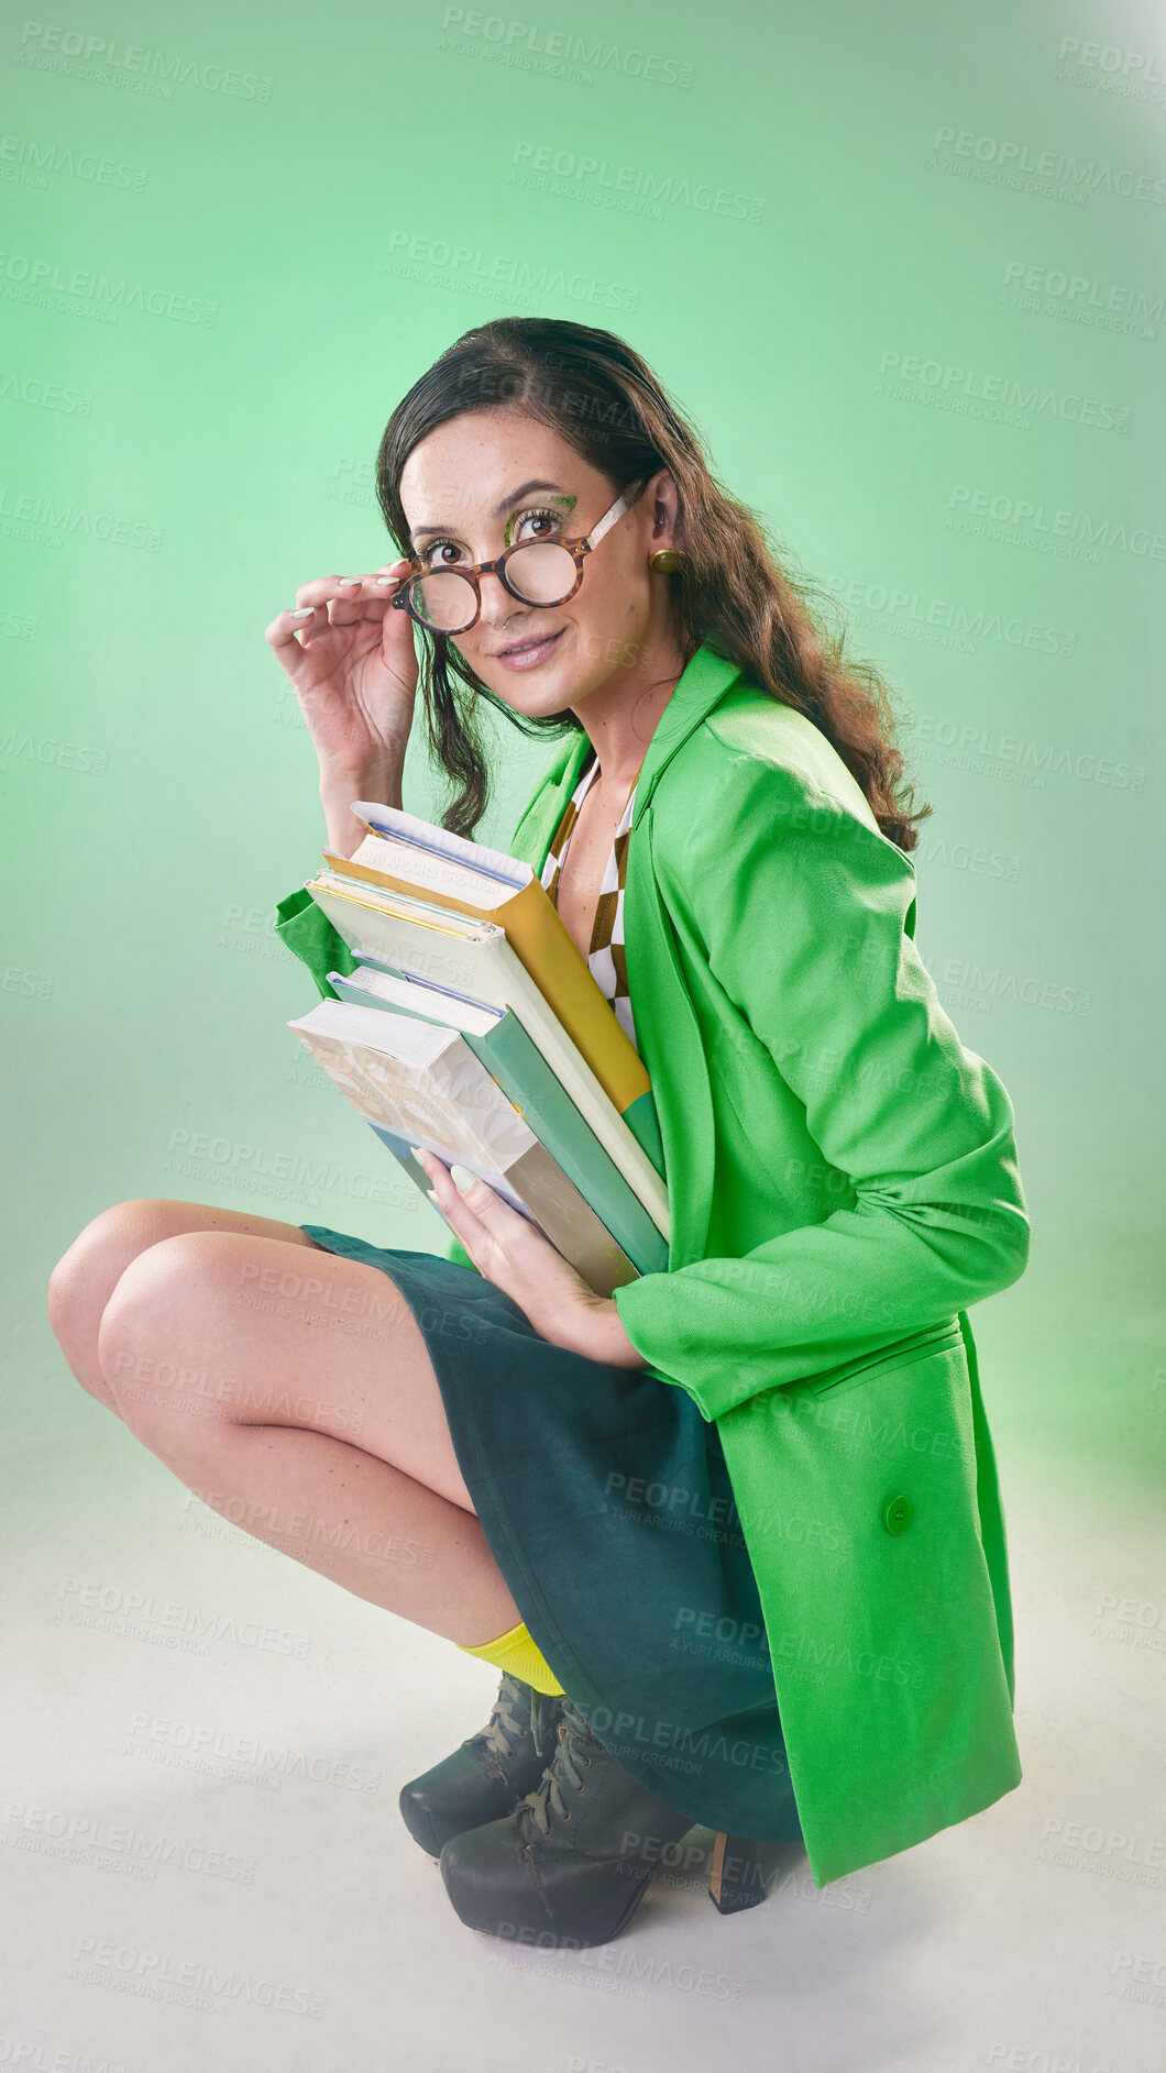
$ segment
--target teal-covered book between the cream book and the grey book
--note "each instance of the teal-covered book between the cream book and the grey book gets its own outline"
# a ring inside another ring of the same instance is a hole
[[[371,958],[363,958],[355,972],[328,972],[328,985],[357,1007],[382,1007],[461,1030],[473,1055],[579,1188],[637,1273],[668,1273],[668,1240],[510,1007],[498,1010],[425,985]]]

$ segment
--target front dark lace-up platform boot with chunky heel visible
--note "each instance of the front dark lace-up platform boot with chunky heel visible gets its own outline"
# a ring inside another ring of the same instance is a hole
[[[583,1949],[618,1936],[660,1859],[693,1826],[622,1770],[571,1700],[542,1785],[510,1816],[452,1837],[446,1893],[471,1930],[542,1949]],[[710,1893],[722,1913],[766,1899],[755,1845],[732,1841],[726,1874],[718,1837]]]

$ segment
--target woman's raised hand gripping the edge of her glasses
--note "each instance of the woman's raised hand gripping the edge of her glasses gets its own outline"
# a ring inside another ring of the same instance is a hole
[[[330,848],[344,856],[367,833],[349,813],[355,798],[402,802],[417,655],[413,620],[388,605],[407,568],[400,560],[367,576],[301,583],[295,609],[280,612],[266,630],[320,759]]]

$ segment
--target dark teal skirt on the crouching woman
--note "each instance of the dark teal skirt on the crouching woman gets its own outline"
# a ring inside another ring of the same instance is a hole
[[[301,1229],[405,1296],[490,1551],[616,1762],[693,1822],[797,1841],[761,1600],[716,1424],[645,1368],[550,1345],[469,1267]]]

